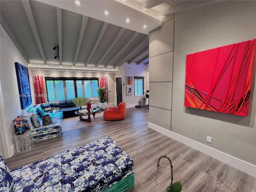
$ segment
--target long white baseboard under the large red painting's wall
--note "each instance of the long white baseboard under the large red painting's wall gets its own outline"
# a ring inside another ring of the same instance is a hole
[[[160,132],[178,142],[181,142],[181,143],[188,145],[200,152],[203,152],[204,154],[207,154],[213,158],[216,158],[234,168],[237,168],[237,169],[249,174],[249,175],[256,177],[256,165],[253,165],[244,160],[238,159],[234,156],[228,155],[224,152],[218,151],[214,148],[211,148],[202,143],[196,142],[192,139],[186,138],[182,135],[176,134],[172,131],[166,130],[166,129],[164,129],[160,126],[157,126],[155,124],[152,124],[150,122],[148,122],[148,127],[153,130],[156,130],[157,132]]]

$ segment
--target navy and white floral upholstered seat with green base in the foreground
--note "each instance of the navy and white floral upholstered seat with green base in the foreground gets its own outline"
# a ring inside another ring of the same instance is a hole
[[[132,186],[133,161],[110,137],[14,170],[0,156],[3,191],[125,192]]]

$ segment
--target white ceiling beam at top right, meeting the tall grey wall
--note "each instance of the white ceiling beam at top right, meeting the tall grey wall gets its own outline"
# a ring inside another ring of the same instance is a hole
[[[175,6],[171,6],[168,9],[164,9],[161,11],[157,12],[157,16],[165,16],[168,14],[176,14],[178,12],[184,12],[184,11],[188,11],[188,10],[192,10],[195,8],[200,8],[200,7],[204,7],[204,6],[208,6],[208,5],[212,5],[212,4],[216,4],[216,3],[220,3],[222,2],[221,0],[193,0],[193,1],[187,1]]]

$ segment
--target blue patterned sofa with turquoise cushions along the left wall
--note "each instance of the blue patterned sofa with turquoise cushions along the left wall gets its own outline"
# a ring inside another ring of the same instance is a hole
[[[38,108],[42,110],[40,111]],[[46,126],[42,124],[42,116],[44,114],[49,114],[52,117],[52,124]],[[59,102],[47,102],[28,108],[14,118],[14,126],[16,126],[16,119],[19,116],[23,118],[23,127],[32,131],[33,142],[60,136],[62,133],[63,113],[59,112]]]

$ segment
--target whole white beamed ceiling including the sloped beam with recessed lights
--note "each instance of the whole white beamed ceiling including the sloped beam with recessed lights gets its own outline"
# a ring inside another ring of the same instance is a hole
[[[165,16],[216,2],[1,0],[0,18],[31,69],[116,72],[123,62],[148,64],[148,34]]]

